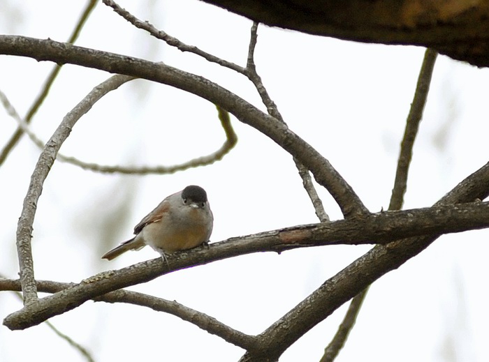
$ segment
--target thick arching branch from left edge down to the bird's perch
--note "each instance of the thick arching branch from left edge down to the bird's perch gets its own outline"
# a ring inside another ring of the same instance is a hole
[[[256,128],[291,153],[314,174],[314,178],[320,185],[326,187],[340,205],[345,216],[363,213],[358,210],[358,205],[361,204],[358,195],[328,160],[312,146],[274,117],[264,114],[242,98],[204,77],[166,66],[163,63],[91,50],[58,43],[54,40],[39,40],[22,36],[0,36],[0,54],[29,56],[38,61],[49,60],[57,63],[77,64],[110,73],[140,77],[194,93],[224,108],[238,120]]]

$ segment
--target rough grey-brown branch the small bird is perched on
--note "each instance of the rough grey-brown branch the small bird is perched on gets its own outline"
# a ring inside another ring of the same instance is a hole
[[[385,244],[409,236],[439,235],[484,227],[489,227],[489,202],[382,211],[363,218],[301,225],[231,238],[212,243],[209,248],[168,255],[168,264],[163,264],[161,258],[157,258],[118,271],[99,273],[52,296],[38,299],[36,303],[8,315],[3,324],[10,329],[25,329],[116,289],[147,282],[171,271],[251,252],[282,252],[293,248],[337,244]]]

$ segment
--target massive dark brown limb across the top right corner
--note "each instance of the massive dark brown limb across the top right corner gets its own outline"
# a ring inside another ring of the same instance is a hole
[[[421,45],[489,66],[488,1],[204,1],[272,27],[365,43]]]

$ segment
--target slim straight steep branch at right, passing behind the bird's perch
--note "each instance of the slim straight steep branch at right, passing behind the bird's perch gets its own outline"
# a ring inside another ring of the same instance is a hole
[[[389,210],[391,211],[400,210],[404,202],[404,193],[407,188],[407,174],[409,172],[409,165],[411,164],[414,139],[418,134],[419,122],[423,116],[423,110],[428,97],[428,91],[430,89],[430,82],[436,59],[437,53],[434,50],[427,49],[423,59],[423,64],[421,65],[421,70],[418,75],[418,83],[416,84],[416,91],[414,92],[414,100],[411,104],[409,115],[407,116],[406,130],[404,133],[404,138],[402,139],[395,183],[393,193],[391,195],[391,203],[389,205]],[[326,349],[324,349],[321,362],[333,362],[336,356],[340,353],[340,349],[343,348],[346,338],[348,338],[349,331],[355,324],[356,317],[360,312],[360,308],[362,307],[363,300],[365,299],[369,288],[370,286],[354,296],[351,300],[348,312],[346,312],[337,333]]]

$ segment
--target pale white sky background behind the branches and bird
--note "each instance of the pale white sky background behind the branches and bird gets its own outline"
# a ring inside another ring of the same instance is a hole
[[[182,40],[245,64],[251,22],[200,1],[124,1],[127,10]],[[85,1],[2,0],[0,33],[65,41]],[[244,77],[182,54],[98,4],[77,45],[165,61],[203,75],[262,110]],[[316,147],[370,211],[388,207],[404,122],[424,49],[365,45],[258,29],[256,65],[293,132]],[[24,116],[53,64],[0,56],[0,89]],[[110,75],[64,66],[32,129],[44,140],[66,112]],[[416,140],[405,208],[430,206],[487,162],[489,72],[439,56]],[[55,163],[34,223],[36,278],[79,282],[156,257],[145,248],[113,262],[103,252],[129,239],[163,197],[203,186],[214,212],[211,241],[316,223],[291,156],[232,119],[238,145],[224,160],[172,175],[97,174]],[[15,129],[1,108],[0,144]],[[174,165],[224,142],[214,105],[138,80],[83,116],[62,153],[109,165]],[[16,278],[15,229],[39,149],[24,137],[0,167],[0,273]],[[341,214],[319,188],[333,219]],[[488,361],[488,232],[443,236],[376,282],[337,361]],[[227,259],[172,273],[133,290],[176,300],[245,333],[261,333],[369,246],[326,246]],[[0,293],[0,316],[21,308]],[[319,361],[346,306],[288,349],[281,361]],[[180,319],[129,305],[87,302],[50,319],[96,361],[237,361],[242,349]],[[0,326],[0,361],[85,361],[47,326]]]

